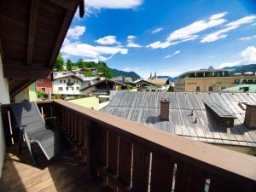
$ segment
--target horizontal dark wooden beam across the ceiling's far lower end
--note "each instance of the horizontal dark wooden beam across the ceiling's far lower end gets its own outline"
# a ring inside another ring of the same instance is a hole
[[[44,79],[52,69],[49,67],[34,67],[25,65],[11,65],[4,63],[3,77],[7,79]]]

